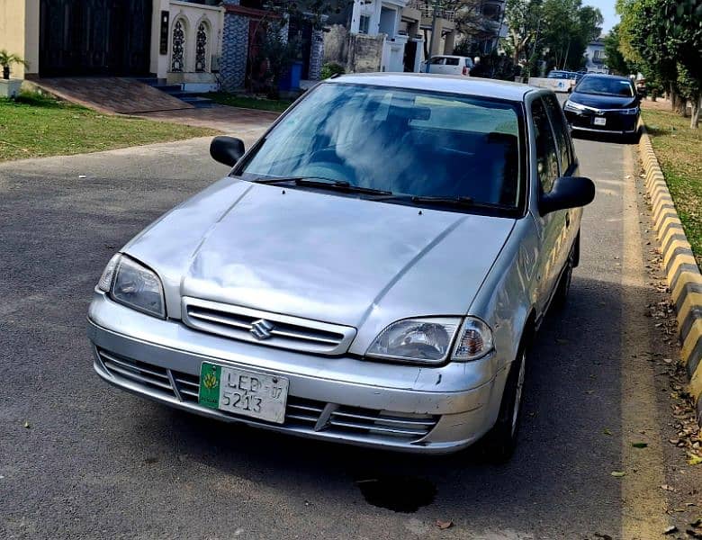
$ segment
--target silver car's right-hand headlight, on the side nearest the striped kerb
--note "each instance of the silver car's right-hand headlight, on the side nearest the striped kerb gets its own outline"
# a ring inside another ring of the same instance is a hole
[[[491,351],[492,332],[482,320],[471,317],[398,320],[374,339],[365,355],[438,365],[446,361],[454,341],[453,360],[475,360]]]

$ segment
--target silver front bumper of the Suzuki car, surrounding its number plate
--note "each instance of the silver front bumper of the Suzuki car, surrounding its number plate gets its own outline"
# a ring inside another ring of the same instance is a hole
[[[94,295],[88,337],[97,374],[128,392],[214,419],[416,453],[454,452],[482,437],[497,419],[505,383],[494,358],[427,368],[306,355],[158,320],[103,293]],[[199,405],[203,361],[286,377],[284,424]]]

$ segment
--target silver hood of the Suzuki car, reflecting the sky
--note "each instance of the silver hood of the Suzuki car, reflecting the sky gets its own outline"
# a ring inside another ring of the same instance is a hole
[[[125,247],[192,296],[337,324],[464,314],[514,220],[224,179]]]

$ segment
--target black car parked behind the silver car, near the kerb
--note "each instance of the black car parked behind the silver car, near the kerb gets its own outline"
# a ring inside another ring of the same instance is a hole
[[[639,95],[626,76],[583,76],[563,103],[572,130],[638,134]]]

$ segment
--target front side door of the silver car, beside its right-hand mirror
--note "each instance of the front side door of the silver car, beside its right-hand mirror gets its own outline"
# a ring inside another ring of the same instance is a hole
[[[545,103],[537,97],[531,103],[531,119],[534,129],[536,153],[536,177],[539,197],[550,193],[556,178],[560,175],[560,159],[554,130],[546,112]],[[563,267],[563,249],[566,211],[552,211],[542,216],[538,208],[533,209],[536,229],[541,249],[536,263],[537,286],[536,306],[543,314],[551,300],[555,285]]]

